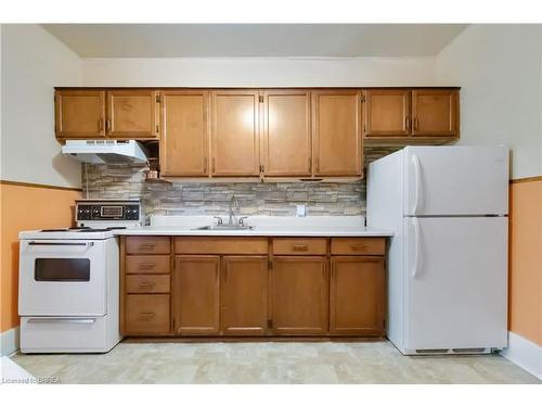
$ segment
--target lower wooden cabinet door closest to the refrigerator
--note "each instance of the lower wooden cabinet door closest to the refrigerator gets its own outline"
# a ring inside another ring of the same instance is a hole
[[[333,256],[331,333],[383,335],[385,293],[384,257]]]

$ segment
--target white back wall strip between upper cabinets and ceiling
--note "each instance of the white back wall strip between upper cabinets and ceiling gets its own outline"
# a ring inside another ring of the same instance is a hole
[[[87,59],[86,86],[427,86],[433,58]]]

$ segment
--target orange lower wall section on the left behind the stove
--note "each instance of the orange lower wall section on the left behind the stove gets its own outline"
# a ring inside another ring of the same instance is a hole
[[[78,191],[0,185],[0,332],[18,326],[18,232],[72,226],[79,198]]]

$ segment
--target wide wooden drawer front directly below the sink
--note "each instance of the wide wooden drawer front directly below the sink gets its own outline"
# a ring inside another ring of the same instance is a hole
[[[268,254],[267,238],[185,237],[175,239],[178,254]]]

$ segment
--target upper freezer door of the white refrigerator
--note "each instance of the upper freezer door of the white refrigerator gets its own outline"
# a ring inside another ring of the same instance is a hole
[[[404,183],[406,216],[506,215],[508,149],[408,147]]]

